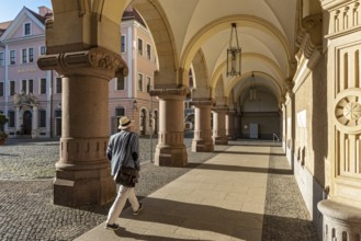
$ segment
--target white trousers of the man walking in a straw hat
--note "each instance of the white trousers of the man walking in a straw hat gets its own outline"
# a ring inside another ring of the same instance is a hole
[[[126,199],[129,199],[129,203],[132,205],[132,209],[134,211],[138,210],[139,208],[139,202],[137,197],[135,196],[134,187],[126,187],[123,185],[120,185],[120,188],[117,191],[117,196],[109,210],[106,223],[113,225],[115,223],[116,219],[120,217]]]

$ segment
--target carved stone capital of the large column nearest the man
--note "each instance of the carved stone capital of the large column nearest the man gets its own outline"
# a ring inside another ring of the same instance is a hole
[[[40,57],[37,66],[42,70],[56,70],[64,76],[88,73],[89,70],[99,72],[109,79],[115,76],[127,76],[126,62],[117,54],[104,48],[91,48],[84,51],[61,53]]]

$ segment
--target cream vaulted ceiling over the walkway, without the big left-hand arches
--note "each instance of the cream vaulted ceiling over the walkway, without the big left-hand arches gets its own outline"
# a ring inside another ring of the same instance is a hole
[[[157,14],[165,20],[177,68],[188,70],[202,53],[207,78],[201,79],[207,83],[200,83],[195,73],[195,88],[214,89],[223,81],[225,96],[229,97],[230,92],[239,96],[249,87],[250,81],[246,80],[255,72],[258,84],[281,101],[285,92],[283,82],[294,71],[297,0],[134,0],[128,3],[140,12],[151,32],[159,27]],[[158,9],[158,13],[149,5]],[[242,49],[242,74],[238,78],[225,74],[232,23],[237,23]]]

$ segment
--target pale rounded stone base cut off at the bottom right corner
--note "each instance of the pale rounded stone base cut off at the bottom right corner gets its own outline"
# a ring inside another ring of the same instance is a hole
[[[330,199],[319,202],[317,208],[324,216],[324,241],[345,240],[345,237],[359,237],[360,239],[360,208]]]

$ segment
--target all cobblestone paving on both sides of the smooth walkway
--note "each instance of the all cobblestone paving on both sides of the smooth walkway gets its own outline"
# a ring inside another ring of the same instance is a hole
[[[136,186],[140,199],[228,148],[216,146],[213,153],[193,153],[190,151],[191,141],[190,137],[184,138],[189,165],[165,168],[149,162],[150,140],[140,138],[142,172]],[[154,139],[153,147],[156,142]],[[105,220],[109,205],[83,208],[53,205],[54,164],[59,156],[58,148],[58,140],[54,139],[9,140],[0,147],[0,240],[68,241]],[[271,164],[277,169],[280,164],[284,165],[284,162],[271,159]],[[263,240],[317,240],[292,173],[274,173],[273,177],[270,176]],[[282,180],[284,177],[287,180]],[[291,188],[292,195],[280,198],[275,192],[284,188]],[[278,218],[275,214],[284,207],[282,202],[287,204],[287,208],[282,210],[283,218]],[[289,208],[294,211],[289,211]],[[293,220],[291,226],[290,220]],[[302,229],[298,225],[302,225]]]

